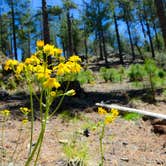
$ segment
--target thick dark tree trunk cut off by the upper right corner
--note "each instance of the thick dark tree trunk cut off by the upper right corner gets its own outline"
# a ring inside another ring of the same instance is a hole
[[[164,4],[162,0],[155,0],[155,5],[156,5],[157,15],[159,18],[160,27],[161,27],[161,31],[162,31],[162,35],[164,39],[164,45],[166,48],[166,12],[164,9]]]

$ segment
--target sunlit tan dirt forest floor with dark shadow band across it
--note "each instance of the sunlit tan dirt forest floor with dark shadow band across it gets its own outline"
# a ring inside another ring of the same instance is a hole
[[[61,114],[57,114],[48,122],[39,165],[65,165],[67,157],[63,151],[63,144],[70,142],[75,133],[78,133],[77,141],[80,145],[84,143],[87,146],[87,165],[99,165],[100,129],[94,130],[93,126],[102,117],[96,111],[96,102],[116,103],[166,114],[166,101],[161,95],[157,97],[155,104],[150,104],[145,100],[146,90],[131,89],[131,86],[126,83],[122,86],[121,84],[112,85],[100,82],[94,85],[84,85],[83,89],[83,94],[73,97],[70,101],[66,99],[64,105],[67,107],[61,108],[74,112],[74,114],[79,115],[79,118],[71,118],[68,121],[62,118]],[[143,98],[138,98],[140,96],[143,96]],[[13,157],[17,166],[24,165],[28,154],[30,123],[21,127],[21,118],[19,116],[16,118],[18,107],[27,104],[25,98],[15,95],[0,102],[0,109],[9,108],[13,111],[5,128],[4,146],[6,155],[3,156],[1,161],[10,161],[9,156],[12,156],[16,145],[18,145]],[[73,107],[71,107],[71,102],[73,102]],[[103,141],[105,166],[166,166],[166,133],[155,133],[152,121],[151,118],[127,121],[120,114],[113,124],[109,124],[106,127]],[[36,119],[34,123],[33,143],[35,144],[40,130],[40,121]],[[86,129],[89,131],[88,137],[83,134]],[[18,140],[19,133],[21,133],[21,136]]]

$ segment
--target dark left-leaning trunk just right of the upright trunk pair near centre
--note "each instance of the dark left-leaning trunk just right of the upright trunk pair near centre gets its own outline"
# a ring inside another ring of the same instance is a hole
[[[115,12],[114,12],[114,24],[115,24],[116,38],[117,38],[118,49],[119,49],[119,60],[120,60],[120,63],[123,65],[124,61],[123,61],[123,55],[122,55],[122,47],[121,47],[121,43],[120,43],[120,34],[119,34],[119,28],[118,28],[118,23],[117,23]]]

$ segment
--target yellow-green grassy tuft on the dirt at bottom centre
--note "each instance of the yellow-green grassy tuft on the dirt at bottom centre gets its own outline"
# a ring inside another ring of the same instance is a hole
[[[86,166],[88,159],[88,147],[81,142],[78,132],[74,132],[69,142],[63,144],[63,151],[67,157],[68,166]]]

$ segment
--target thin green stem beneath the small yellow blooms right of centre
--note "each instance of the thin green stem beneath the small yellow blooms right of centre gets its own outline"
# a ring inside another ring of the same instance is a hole
[[[101,135],[100,135],[100,155],[101,155],[101,161],[99,166],[104,165],[104,152],[103,152],[103,138],[105,133],[105,124],[102,125]]]

